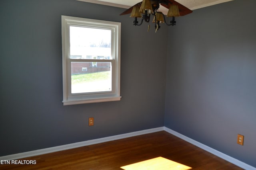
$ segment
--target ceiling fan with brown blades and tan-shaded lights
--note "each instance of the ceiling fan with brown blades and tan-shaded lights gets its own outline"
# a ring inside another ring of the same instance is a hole
[[[160,5],[169,9],[166,16],[172,17],[170,23],[167,23],[164,14],[158,11]],[[131,14],[130,17],[134,17],[133,25],[142,25],[143,21],[149,23],[150,15],[152,15],[154,16],[153,22],[155,23],[155,28],[157,31],[160,28],[160,23],[166,23],[166,25],[176,25],[175,17],[185,16],[190,13],[192,13],[192,10],[174,0],[143,0],[142,2],[130,7],[120,15]],[[137,18],[142,18],[140,23],[138,23]],[[148,31],[149,28],[150,25],[148,24]]]

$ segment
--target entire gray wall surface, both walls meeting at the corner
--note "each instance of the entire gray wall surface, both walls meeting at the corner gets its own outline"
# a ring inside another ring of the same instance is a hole
[[[0,156],[165,125],[256,166],[255,6],[194,10],[155,34],[121,8],[1,0]],[[121,101],[62,105],[61,15],[122,22]]]

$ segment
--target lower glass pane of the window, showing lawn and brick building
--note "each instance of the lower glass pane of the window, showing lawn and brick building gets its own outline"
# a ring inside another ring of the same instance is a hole
[[[71,62],[72,94],[111,90],[111,62]]]

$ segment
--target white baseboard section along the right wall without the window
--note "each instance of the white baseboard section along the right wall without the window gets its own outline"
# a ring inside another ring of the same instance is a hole
[[[172,134],[172,135],[174,135],[174,136],[176,136],[176,137],[178,137],[180,139],[183,139],[184,141],[187,141],[188,143],[191,143],[191,144],[193,144],[193,145],[195,145],[195,146],[197,146],[197,147],[199,147],[201,149],[204,149],[207,152],[210,152],[210,153],[212,153],[212,154],[214,154],[214,155],[216,155],[216,156],[218,156],[218,157],[220,157],[220,158],[222,158],[222,159],[224,159],[224,160],[226,160],[226,161],[228,161],[228,162],[230,162],[232,164],[235,164],[236,166],[239,166],[240,168],[243,168],[245,170],[256,170],[256,168],[253,167],[253,166],[250,166],[250,165],[248,165],[248,164],[246,164],[246,163],[244,163],[244,162],[242,162],[240,160],[237,160],[237,159],[235,159],[235,158],[233,158],[231,156],[228,156],[228,155],[226,155],[226,154],[224,154],[222,152],[219,152],[218,150],[215,150],[215,149],[213,149],[211,147],[208,147],[208,146],[206,146],[206,145],[204,145],[204,144],[202,144],[202,143],[200,143],[198,141],[195,141],[194,139],[186,137],[186,136],[184,136],[184,135],[182,135],[182,134],[180,134],[180,133],[178,133],[176,131],[173,131],[172,129],[164,127],[164,131],[166,131],[166,132],[168,132],[168,133],[170,133],[170,134]]]

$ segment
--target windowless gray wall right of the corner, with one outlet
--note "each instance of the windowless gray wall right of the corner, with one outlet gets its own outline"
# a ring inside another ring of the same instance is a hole
[[[169,29],[165,114],[166,127],[254,167],[255,6],[234,0],[194,10]]]

